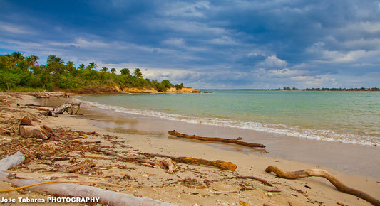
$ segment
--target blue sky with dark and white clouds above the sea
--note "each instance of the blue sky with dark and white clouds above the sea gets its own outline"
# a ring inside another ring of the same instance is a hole
[[[0,54],[196,88],[380,87],[380,1],[0,0]]]

